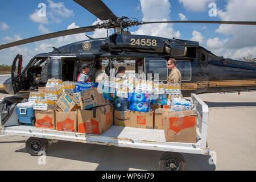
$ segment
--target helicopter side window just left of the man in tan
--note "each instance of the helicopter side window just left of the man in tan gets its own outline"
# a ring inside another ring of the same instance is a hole
[[[149,61],[149,73],[154,76],[158,74],[159,81],[167,81],[168,79],[168,69],[166,60],[150,60]],[[156,79],[156,77],[155,77]]]

